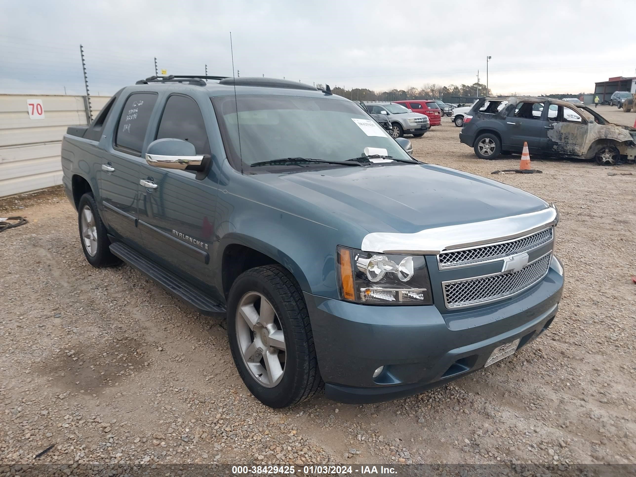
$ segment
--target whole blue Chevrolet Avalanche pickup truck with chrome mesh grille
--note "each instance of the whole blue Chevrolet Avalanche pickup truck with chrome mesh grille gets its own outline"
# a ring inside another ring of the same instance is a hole
[[[68,129],[62,167],[88,262],[226,317],[261,402],[368,403],[510,356],[563,287],[554,205],[407,143],[329,88],[151,77]]]

